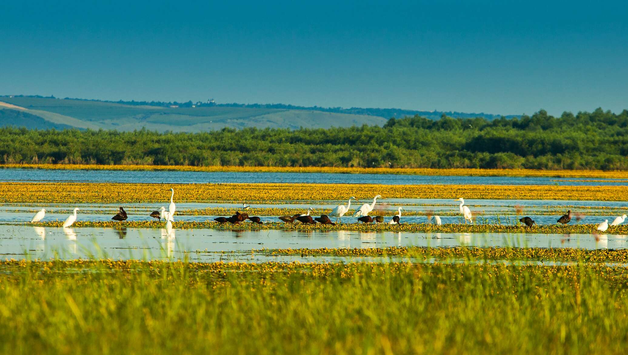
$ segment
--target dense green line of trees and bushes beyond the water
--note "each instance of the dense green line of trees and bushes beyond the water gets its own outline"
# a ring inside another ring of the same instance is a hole
[[[329,129],[0,129],[1,163],[628,170],[628,111],[391,118]]]

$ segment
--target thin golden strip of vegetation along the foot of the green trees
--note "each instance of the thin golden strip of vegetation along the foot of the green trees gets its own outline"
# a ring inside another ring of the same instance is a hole
[[[171,170],[185,172],[279,172],[279,173],[370,173],[404,175],[457,175],[500,177],[628,178],[626,171],[533,170],[533,169],[434,169],[434,168],[346,168],[346,167],[192,167],[188,165],[87,165],[87,164],[4,164],[0,168],[78,170]]]

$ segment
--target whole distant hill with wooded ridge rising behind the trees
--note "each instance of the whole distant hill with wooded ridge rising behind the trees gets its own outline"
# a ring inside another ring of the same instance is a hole
[[[171,107],[176,106],[176,107]],[[196,107],[193,107],[196,106]],[[284,104],[97,101],[41,96],[0,96],[0,126],[200,132],[228,128],[382,126],[390,117],[501,117],[463,112],[302,107]]]

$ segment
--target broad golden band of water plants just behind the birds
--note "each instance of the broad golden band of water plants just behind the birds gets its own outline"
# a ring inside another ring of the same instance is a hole
[[[0,203],[167,202],[168,188],[176,202],[277,202],[388,199],[627,199],[624,186],[543,185],[354,185],[322,183],[0,183]],[[386,200],[380,200],[380,203]]]

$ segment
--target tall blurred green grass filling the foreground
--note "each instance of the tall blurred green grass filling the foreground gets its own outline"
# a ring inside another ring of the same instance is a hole
[[[0,263],[11,354],[625,354],[628,270]]]

